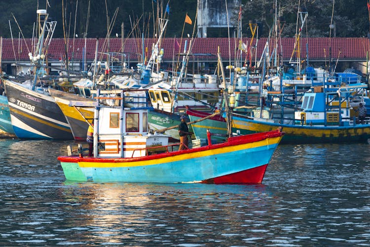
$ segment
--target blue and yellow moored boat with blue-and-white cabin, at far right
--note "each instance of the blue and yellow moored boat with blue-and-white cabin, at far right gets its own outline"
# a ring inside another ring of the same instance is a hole
[[[281,126],[286,133],[282,143],[367,142],[370,138],[369,119],[363,124],[357,123],[351,102],[356,95],[355,89],[364,87],[366,85],[356,83],[324,88],[323,92],[306,92],[302,106],[295,111],[295,118],[290,124],[234,114],[233,131],[248,134]]]

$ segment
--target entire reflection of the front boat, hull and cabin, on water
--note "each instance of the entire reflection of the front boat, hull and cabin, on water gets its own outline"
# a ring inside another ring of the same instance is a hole
[[[59,189],[67,204],[63,207],[66,211],[70,208],[75,211],[78,207],[80,211],[76,217],[64,221],[69,222],[70,227],[77,224],[79,228],[89,229],[80,231],[86,235],[81,239],[109,244],[135,242],[139,236],[144,239],[148,236],[151,240],[154,235],[163,238],[172,231],[180,231],[183,235],[186,233],[184,224],[200,230],[225,217],[228,220],[224,225],[232,228],[240,224],[240,215],[236,212],[245,210],[244,200],[248,201],[248,207],[256,209],[274,197],[263,184],[215,186],[65,181],[63,185]],[[207,218],[203,217],[204,213]],[[271,215],[273,210],[266,213]]]

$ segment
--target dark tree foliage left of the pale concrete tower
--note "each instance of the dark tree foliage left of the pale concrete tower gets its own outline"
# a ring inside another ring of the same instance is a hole
[[[5,2],[4,2],[5,1]],[[49,18],[57,21],[57,26],[54,32],[55,38],[63,38],[63,21],[62,21],[62,0],[18,0],[16,2],[3,0],[0,9],[0,36],[10,38],[9,20],[11,23],[11,31],[13,38],[18,38],[19,29],[12,17],[14,14],[20,28],[26,38],[31,38],[33,34],[33,25],[37,21],[37,2],[38,9],[47,9]],[[124,37],[141,37],[144,30],[146,37],[152,37],[157,30],[157,24],[153,23],[157,16],[164,16],[166,12],[167,0],[90,0],[90,18],[87,31],[88,38],[106,37],[108,33],[107,17],[112,25],[111,37],[116,34],[121,37],[121,24],[124,25]],[[106,4],[107,3],[107,4]],[[82,38],[86,29],[86,19],[89,0],[78,0],[76,10],[76,0],[64,0],[65,12],[65,32],[69,37],[73,37],[74,33],[74,16],[76,14],[76,34],[78,38]],[[180,37],[183,30],[185,14],[195,21],[196,0],[169,1],[170,14],[166,13],[166,18],[169,19],[166,37]],[[113,19],[113,14],[118,8],[117,17]],[[144,13],[143,13],[144,10]],[[154,18],[153,18],[154,15]],[[144,22],[144,27],[143,27]],[[138,23],[138,25],[135,25]],[[196,23],[196,22],[195,22]],[[154,30],[155,29],[155,30]],[[185,25],[184,34],[192,33],[192,26]]]

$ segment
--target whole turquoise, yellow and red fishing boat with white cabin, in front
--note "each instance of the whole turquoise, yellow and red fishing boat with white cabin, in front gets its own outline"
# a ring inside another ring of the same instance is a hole
[[[98,93],[98,98],[99,93]],[[143,94],[142,98],[146,98]],[[220,144],[181,151],[168,145],[165,134],[151,134],[147,106],[139,100],[125,107],[97,103],[93,157],[60,156],[67,180],[158,183],[261,183],[266,167],[284,133],[273,130],[235,136]],[[210,140],[211,133],[208,134]]]

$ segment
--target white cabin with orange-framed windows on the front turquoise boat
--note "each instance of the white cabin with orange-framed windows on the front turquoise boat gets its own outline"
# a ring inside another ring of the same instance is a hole
[[[145,91],[126,96],[115,100],[126,102],[123,105],[130,107],[99,105],[95,108],[94,157],[143,157],[153,152],[151,147],[168,145],[168,135],[151,134],[148,129],[149,108],[143,107]]]

